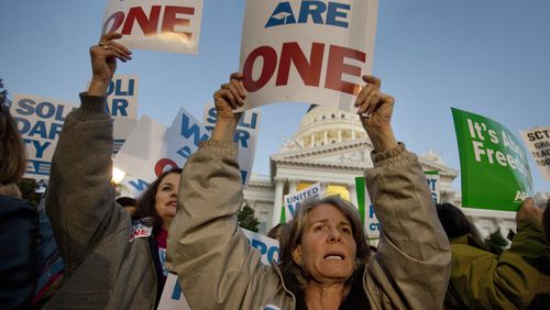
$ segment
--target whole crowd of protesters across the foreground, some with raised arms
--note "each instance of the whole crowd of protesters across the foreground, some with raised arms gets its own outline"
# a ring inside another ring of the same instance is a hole
[[[117,199],[106,104],[117,63],[132,58],[120,37],[105,34],[89,49],[91,82],[66,117],[37,210],[15,186],[24,146],[0,104],[1,309],[156,309],[168,273],[191,309],[550,307],[550,206],[542,213],[526,199],[510,246],[488,252],[459,208],[433,203],[417,156],[395,139],[395,100],[373,76],[363,77],[355,108],[374,146],[364,176],[382,225],[376,251],[356,208],[326,197],[274,228],[279,261],[261,263],[237,219],[240,73],[213,93],[211,137],[185,167],[162,174],[136,200]]]

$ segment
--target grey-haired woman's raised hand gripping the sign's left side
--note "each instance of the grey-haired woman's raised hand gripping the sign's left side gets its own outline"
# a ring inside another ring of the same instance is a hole
[[[222,84],[220,89],[213,93],[216,104],[216,125],[212,131],[212,140],[232,141],[233,133],[242,113],[233,110],[244,104],[246,92],[242,85],[243,75],[233,73],[228,84]]]

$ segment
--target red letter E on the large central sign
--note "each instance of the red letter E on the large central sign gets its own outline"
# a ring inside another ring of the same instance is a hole
[[[329,49],[324,87],[350,95],[356,95],[360,87],[355,84],[343,81],[342,74],[360,77],[361,67],[344,64],[345,58],[352,58],[364,63],[366,60],[366,54],[361,51],[331,45]]]

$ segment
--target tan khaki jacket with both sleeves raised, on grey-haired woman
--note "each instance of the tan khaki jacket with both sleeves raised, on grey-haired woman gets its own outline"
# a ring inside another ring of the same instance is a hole
[[[237,153],[237,144],[207,141],[187,160],[168,269],[178,274],[193,309],[295,309],[278,269],[260,262],[237,226],[243,202]],[[373,309],[439,309],[451,252],[418,159],[404,145],[373,157],[365,177],[383,231],[364,275],[369,302]]]

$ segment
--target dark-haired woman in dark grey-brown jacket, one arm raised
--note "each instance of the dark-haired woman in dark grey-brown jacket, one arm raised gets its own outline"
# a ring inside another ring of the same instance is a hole
[[[90,47],[92,79],[65,120],[55,150],[46,211],[65,262],[64,283],[46,309],[155,309],[167,230],[176,214],[180,169],[161,175],[130,213],[111,184],[113,121],[107,89],[117,59],[131,52],[108,33]]]

